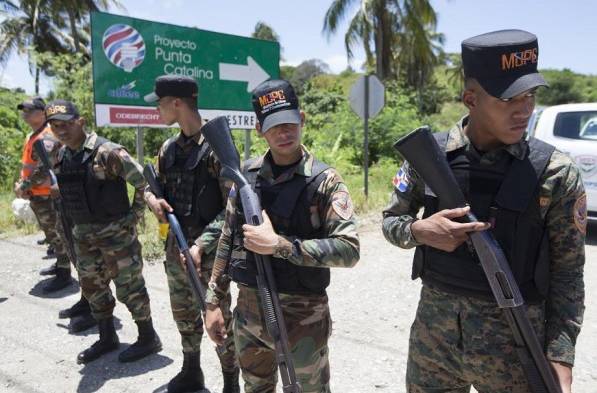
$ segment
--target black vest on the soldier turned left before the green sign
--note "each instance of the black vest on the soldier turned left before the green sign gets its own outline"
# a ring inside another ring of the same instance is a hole
[[[186,152],[173,141],[164,154],[165,197],[186,232],[202,231],[223,208],[218,178],[208,170],[210,151],[205,141]]]

